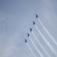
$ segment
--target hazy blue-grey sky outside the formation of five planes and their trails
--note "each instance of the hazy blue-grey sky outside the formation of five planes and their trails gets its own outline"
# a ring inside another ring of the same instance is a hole
[[[24,39],[35,14],[57,41],[57,0],[0,0],[0,57],[32,57]]]

